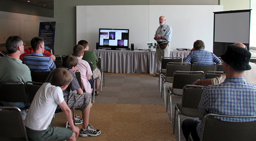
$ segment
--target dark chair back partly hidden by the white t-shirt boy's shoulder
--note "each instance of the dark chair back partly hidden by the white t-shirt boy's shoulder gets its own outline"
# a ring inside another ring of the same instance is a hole
[[[41,87],[42,84],[44,84],[44,83],[42,83],[42,82],[32,82],[32,81],[28,81],[26,83],[27,90],[28,90],[28,99],[29,99],[30,104],[32,103],[37,90]]]

